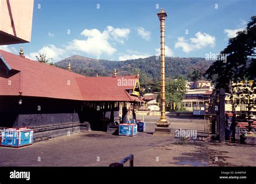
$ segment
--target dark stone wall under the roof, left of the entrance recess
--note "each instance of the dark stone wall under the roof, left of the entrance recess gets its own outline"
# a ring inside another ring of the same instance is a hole
[[[21,105],[19,99],[22,99]],[[81,105],[82,102],[73,100],[0,96],[0,126],[38,128],[84,122]]]

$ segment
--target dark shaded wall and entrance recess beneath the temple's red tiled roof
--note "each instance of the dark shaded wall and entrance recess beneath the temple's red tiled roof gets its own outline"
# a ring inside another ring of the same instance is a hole
[[[20,99],[21,105],[18,104]],[[113,119],[111,119],[111,109],[89,108],[83,105],[82,101],[0,96],[0,127],[29,126],[33,129],[73,122],[89,122],[92,130],[106,131],[107,124],[119,120],[119,107],[112,110]]]

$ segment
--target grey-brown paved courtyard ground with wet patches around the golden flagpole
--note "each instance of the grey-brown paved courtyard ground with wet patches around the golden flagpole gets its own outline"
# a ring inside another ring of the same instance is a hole
[[[154,136],[157,119],[145,116],[146,132],[135,137],[90,131],[21,148],[0,147],[0,166],[109,166],[130,153],[134,166],[256,166],[253,145]],[[204,130],[203,119],[175,117],[169,121],[173,133],[179,128]]]

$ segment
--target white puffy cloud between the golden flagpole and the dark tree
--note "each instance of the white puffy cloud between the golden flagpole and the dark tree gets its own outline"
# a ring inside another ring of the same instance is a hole
[[[201,48],[210,46],[215,46],[215,37],[207,33],[201,33],[200,31],[196,33],[196,38],[190,38],[190,40],[185,40],[184,37],[178,37],[178,42],[175,44],[175,48],[181,47],[183,52],[196,51]]]

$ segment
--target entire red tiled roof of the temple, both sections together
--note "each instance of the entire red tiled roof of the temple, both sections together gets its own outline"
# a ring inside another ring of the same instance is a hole
[[[126,91],[133,89],[131,81],[136,81],[136,76],[86,77],[2,50],[0,54],[13,70],[17,70],[8,77],[0,73],[0,95],[22,94],[84,101],[140,101]],[[11,85],[8,85],[9,81]]]

